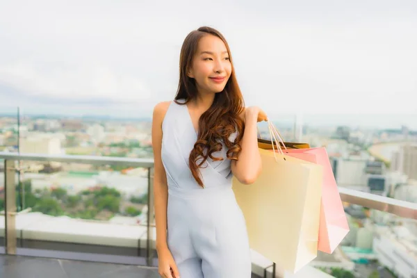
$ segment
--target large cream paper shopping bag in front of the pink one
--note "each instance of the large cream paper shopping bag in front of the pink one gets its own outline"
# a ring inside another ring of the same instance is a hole
[[[295,273],[317,256],[322,166],[259,149],[262,171],[233,190],[252,250]]]

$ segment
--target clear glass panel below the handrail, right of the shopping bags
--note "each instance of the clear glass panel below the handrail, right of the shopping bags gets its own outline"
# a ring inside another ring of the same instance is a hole
[[[350,232],[332,254],[318,252],[310,266],[334,277],[415,277],[415,218],[357,204],[345,204],[345,211]]]

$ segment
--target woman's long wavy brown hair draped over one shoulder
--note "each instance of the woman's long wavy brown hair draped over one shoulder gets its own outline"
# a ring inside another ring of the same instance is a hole
[[[215,94],[213,104],[199,118],[197,141],[188,158],[191,173],[199,186],[203,188],[204,184],[199,168],[202,167],[208,157],[213,159],[213,161],[223,160],[223,158],[213,156],[213,152],[218,152],[222,149],[221,141],[228,148],[227,158],[237,160],[240,152],[239,142],[243,137],[245,129],[244,122],[240,118],[240,113],[243,113],[245,109],[245,102],[236,81],[229,44],[227,44],[223,35],[214,28],[200,27],[190,32],[184,40],[179,58],[179,85],[174,101],[177,104],[186,105],[188,101],[197,97],[198,92],[195,79],[190,78],[187,72],[189,72],[193,58],[197,53],[198,42],[205,35],[215,35],[226,45],[231,63],[231,75],[222,92]],[[181,103],[178,101],[179,99],[185,99],[185,102]],[[235,131],[237,131],[236,139],[231,142],[229,141],[229,136]],[[199,162],[197,163],[197,161]]]

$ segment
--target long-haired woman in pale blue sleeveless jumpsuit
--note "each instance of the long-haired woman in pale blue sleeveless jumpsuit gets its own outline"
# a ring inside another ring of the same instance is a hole
[[[245,219],[231,178],[253,183],[261,172],[256,123],[245,108],[229,46],[213,28],[192,31],[180,54],[174,101],[152,120],[156,250],[164,278],[251,276]]]

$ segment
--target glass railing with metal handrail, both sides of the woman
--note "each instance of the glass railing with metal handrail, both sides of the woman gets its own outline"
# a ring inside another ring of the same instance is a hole
[[[8,203],[0,220],[6,253],[157,264],[154,214],[148,209],[152,159],[4,152],[0,158],[6,161],[5,196],[16,200],[15,206]],[[333,254],[319,252],[297,275],[411,273],[416,267],[411,258],[416,255],[417,204],[339,190],[350,233]],[[272,277],[272,262],[252,255],[254,272]]]

